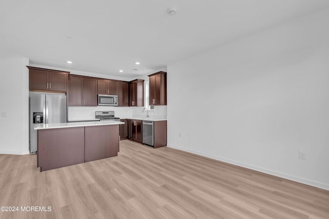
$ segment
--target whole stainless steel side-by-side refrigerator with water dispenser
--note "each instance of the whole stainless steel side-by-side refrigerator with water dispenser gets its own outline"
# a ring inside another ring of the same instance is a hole
[[[29,93],[30,105],[30,153],[37,146],[35,124],[66,123],[66,95],[56,93]]]

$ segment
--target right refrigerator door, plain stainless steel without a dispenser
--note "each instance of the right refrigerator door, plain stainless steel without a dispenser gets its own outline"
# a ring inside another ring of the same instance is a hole
[[[65,95],[46,95],[46,123],[66,123]]]

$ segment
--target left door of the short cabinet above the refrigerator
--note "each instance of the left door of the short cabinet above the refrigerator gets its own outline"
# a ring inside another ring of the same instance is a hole
[[[29,89],[49,90],[48,71],[29,70]]]

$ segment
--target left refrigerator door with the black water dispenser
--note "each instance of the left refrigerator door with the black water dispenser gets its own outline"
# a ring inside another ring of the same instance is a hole
[[[46,95],[30,93],[30,153],[36,153],[36,130],[35,124],[45,123]]]

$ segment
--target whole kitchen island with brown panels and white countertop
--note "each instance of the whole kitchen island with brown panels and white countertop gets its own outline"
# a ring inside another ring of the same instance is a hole
[[[100,121],[35,125],[37,166],[45,171],[117,156],[120,124]]]

